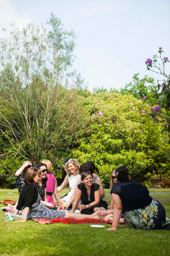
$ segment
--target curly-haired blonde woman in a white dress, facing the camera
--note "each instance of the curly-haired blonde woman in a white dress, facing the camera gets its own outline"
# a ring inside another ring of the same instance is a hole
[[[69,192],[61,198],[61,203],[63,207],[68,204],[74,192],[76,181],[78,178],[81,177],[79,174],[79,168],[80,168],[80,164],[76,159],[68,158],[65,161],[65,171],[67,172],[67,175],[63,183],[60,186],[58,186],[58,189],[57,189],[59,192],[59,191],[62,191],[67,185],[69,185],[70,187]]]

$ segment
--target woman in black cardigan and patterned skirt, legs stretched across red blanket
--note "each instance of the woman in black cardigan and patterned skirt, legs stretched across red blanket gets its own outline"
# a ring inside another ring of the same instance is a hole
[[[39,183],[41,171],[34,167],[28,169],[25,174],[25,185],[20,193],[17,209],[14,215],[17,215],[21,207],[25,207],[22,220],[17,222],[25,222],[33,218],[48,218],[50,220],[60,218],[72,218],[73,220],[81,220],[82,218],[98,219],[98,216],[87,216],[80,214],[72,214],[65,211],[57,211],[48,209],[40,202],[40,195],[36,188],[36,183]]]

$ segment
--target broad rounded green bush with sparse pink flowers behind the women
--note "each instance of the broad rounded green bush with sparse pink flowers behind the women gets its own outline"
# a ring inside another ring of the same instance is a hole
[[[87,102],[91,114],[72,154],[80,164],[95,163],[105,188],[111,172],[121,165],[127,166],[138,182],[147,181],[147,172],[153,170],[156,175],[170,176],[164,154],[170,147],[161,136],[162,126],[145,118],[149,105],[141,109],[141,100],[114,92],[93,94]]]

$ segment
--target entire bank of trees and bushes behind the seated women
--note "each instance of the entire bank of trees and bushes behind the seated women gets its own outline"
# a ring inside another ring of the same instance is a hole
[[[126,165],[147,186],[170,171],[163,124],[152,121],[156,104],[151,77],[109,92],[86,89],[72,70],[75,38],[53,14],[46,26],[28,24],[0,44],[0,186],[14,188],[14,173],[25,159],[50,159],[58,184],[64,159],[93,161],[105,188],[112,171]],[[149,103],[143,104],[146,97]]]

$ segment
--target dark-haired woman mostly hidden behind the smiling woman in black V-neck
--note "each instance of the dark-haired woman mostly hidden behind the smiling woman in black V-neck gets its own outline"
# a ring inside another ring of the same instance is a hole
[[[98,168],[95,166],[95,164],[91,161],[87,161],[83,164],[81,164],[80,166],[80,169],[79,169],[79,172],[80,174],[81,173],[84,173],[84,172],[91,172],[92,174],[92,178],[93,178],[93,183],[95,184],[98,184],[100,185],[100,193],[101,193],[101,198],[103,198],[103,200],[105,201],[104,197],[105,197],[105,190],[103,188],[103,184],[101,182],[101,179],[100,177],[98,177],[96,174],[95,174],[95,170],[96,172],[98,172]],[[67,210],[68,207],[74,202],[74,198],[75,198],[75,191],[77,189],[77,186],[81,183],[81,178],[79,178],[77,181],[76,181],[76,185],[75,185],[75,189],[74,189],[74,192],[73,192],[73,195],[71,196],[69,202],[67,205],[64,206],[64,209]]]

